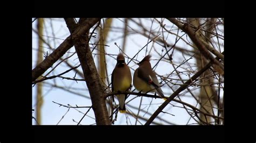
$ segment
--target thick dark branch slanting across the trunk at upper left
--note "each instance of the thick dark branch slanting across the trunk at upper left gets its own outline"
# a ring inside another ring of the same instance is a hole
[[[62,57],[72,46],[73,40],[79,39],[82,34],[89,31],[90,28],[99,22],[100,18],[88,18],[80,24],[77,29],[66,38],[62,44],[58,46],[50,55],[48,55],[38,66],[32,70],[32,82],[35,81],[40,75],[42,75],[53,63],[55,63],[60,57]],[[72,37],[72,39],[71,39]]]

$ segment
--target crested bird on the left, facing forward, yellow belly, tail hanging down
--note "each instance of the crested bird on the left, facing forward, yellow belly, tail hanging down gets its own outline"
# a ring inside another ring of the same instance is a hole
[[[124,61],[124,56],[120,53],[117,56],[117,65],[114,67],[112,76],[112,92],[129,91],[132,87],[132,75],[130,68]],[[119,102],[119,112],[125,113],[125,99],[127,94],[116,95]]]

